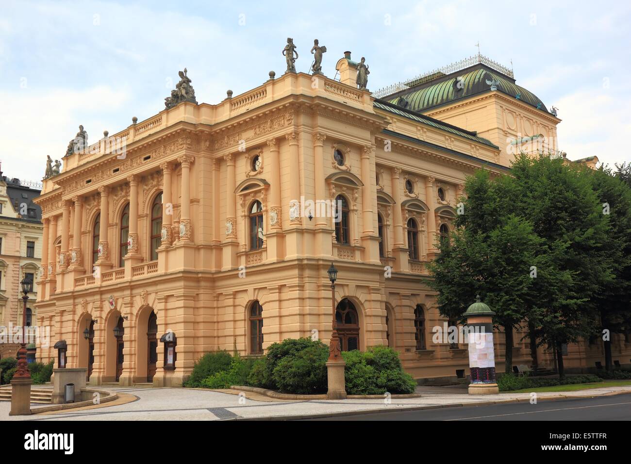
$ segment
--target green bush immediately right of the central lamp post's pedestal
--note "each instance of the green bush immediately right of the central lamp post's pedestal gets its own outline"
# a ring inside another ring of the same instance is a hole
[[[403,371],[401,361],[392,348],[370,347],[365,352],[343,352],[348,395],[382,395],[414,393],[416,381]]]

